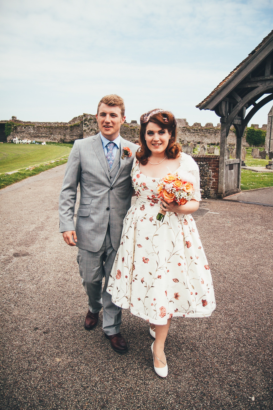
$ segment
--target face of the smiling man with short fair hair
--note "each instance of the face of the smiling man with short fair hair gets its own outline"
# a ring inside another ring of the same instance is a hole
[[[120,125],[125,121],[125,116],[121,116],[120,107],[102,103],[99,106],[96,118],[102,135],[109,141],[114,141],[120,133]]]

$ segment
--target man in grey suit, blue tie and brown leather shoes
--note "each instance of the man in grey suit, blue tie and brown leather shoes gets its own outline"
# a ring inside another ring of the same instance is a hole
[[[120,245],[123,219],[131,206],[130,173],[138,149],[120,137],[124,110],[124,101],[117,95],[100,100],[96,114],[100,132],[74,142],[59,200],[60,232],[68,245],[79,248],[77,262],[89,306],[84,327],[91,330],[97,326],[103,307],[104,334],[119,353],[127,350],[120,334],[121,309],[112,303],[106,287]],[[130,148],[131,157],[122,158],[124,146]],[[81,197],[75,229],[78,184]]]

